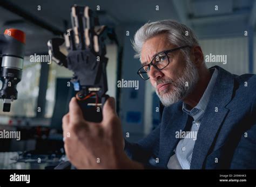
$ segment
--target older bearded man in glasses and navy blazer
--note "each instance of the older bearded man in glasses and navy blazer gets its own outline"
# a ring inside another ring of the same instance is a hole
[[[255,75],[208,69],[194,33],[172,20],[142,26],[133,47],[142,63],[138,74],[165,106],[161,124],[129,143],[113,98],[102,123],[85,121],[73,98],[63,135],[76,168],[256,169]]]

